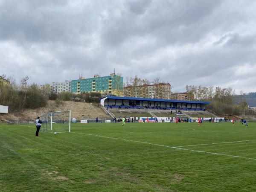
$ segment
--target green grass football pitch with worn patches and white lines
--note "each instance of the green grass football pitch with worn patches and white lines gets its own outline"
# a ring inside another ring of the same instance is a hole
[[[1,192],[256,191],[256,123],[0,125]]]

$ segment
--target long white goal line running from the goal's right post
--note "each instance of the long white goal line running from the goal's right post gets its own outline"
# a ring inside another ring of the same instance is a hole
[[[85,133],[76,133],[76,132],[70,132],[70,133],[85,134]],[[179,147],[171,147],[171,146],[167,146],[167,145],[159,145],[159,144],[147,143],[147,142],[142,142],[142,141],[134,141],[134,140],[125,140],[125,139],[120,139],[120,138],[115,138],[115,137],[105,137],[105,136],[95,135],[95,134],[85,134],[85,135],[92,135],[92,136],[95,136],[95,137],[103,137],[103,138],[115,139],[115,140],[131,141],[131,142],[136,142],[136,143],[144,143],[144,144],[156,145],[156,146],[161,146],[161,147],[176,148],[176,149],[187,150],[187,151],[194,151],[194,152],[200,152],[200,153],[208,153],[208,154],[223,155],[223,156],[228,156],[228,157],[236,157],[236,158],[242,158],[242,159],[256,160],[256,159],[249,158],[249,157],[240,157],[240,156],[235,156],[235,155],[228,155],[228,154],[221,154],[221,153],[212,153],[212,152],[207,152],[207,151],[198,151],[198,150],[179,148]]]

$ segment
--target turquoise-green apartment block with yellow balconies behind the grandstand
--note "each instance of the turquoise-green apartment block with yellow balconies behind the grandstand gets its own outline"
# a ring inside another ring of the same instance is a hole
[[[123,77],[111,73],[110,76],[94,76],[93,78],[85,79],[80,77],[77,80],[71,81],[71,92],[80,94],[83,92],[89,93],[105,93],[123,96]]]

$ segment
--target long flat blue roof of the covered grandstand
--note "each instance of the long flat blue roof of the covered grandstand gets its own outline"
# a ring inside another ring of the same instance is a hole
[[[101,99],[118,99],[118,100],[137,100],[137,101],[152,101],[152,102],[173,102],[173,103],[195,103],[195,104],[210,104],[210,102],[198,102],[198,101],[181,101],[181,100],[169,100],[169,99],[150,99],[150,98],[137,98],[137,97],[117,97],[106,96]]]

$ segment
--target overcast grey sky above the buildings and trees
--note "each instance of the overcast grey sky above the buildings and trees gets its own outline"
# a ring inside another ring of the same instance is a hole
[[[255,0],[0,0],[0,75],[256,92]]]

